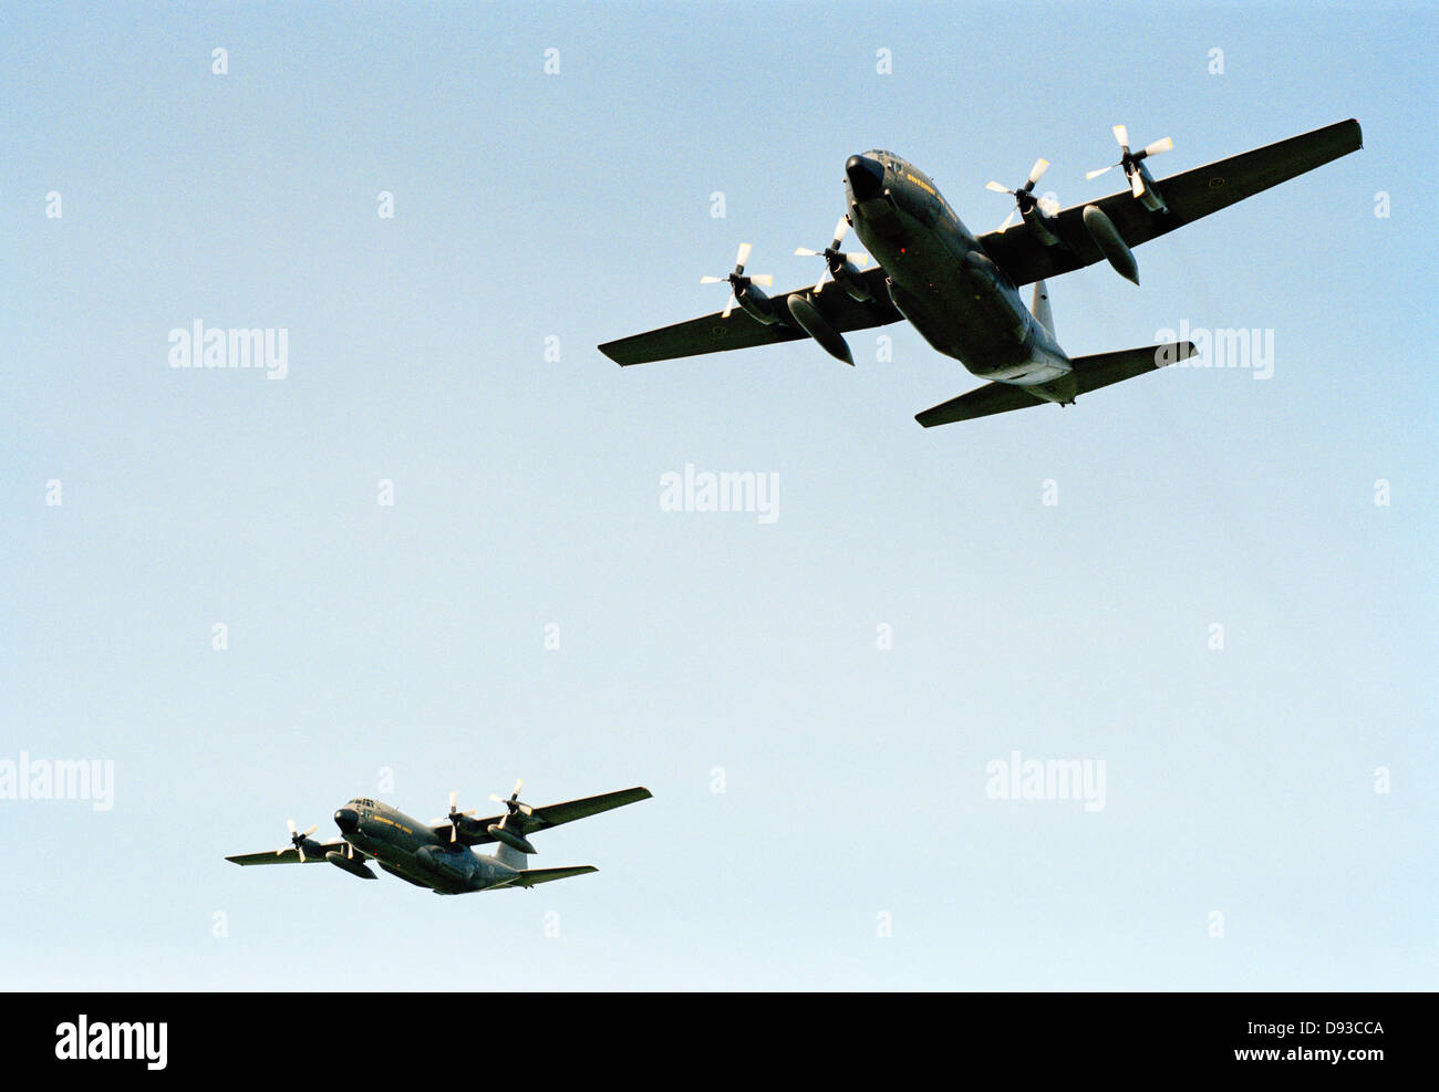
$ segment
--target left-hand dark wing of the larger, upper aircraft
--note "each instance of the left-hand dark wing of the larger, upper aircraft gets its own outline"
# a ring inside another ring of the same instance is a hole
[[[730,312],[730,318],[721,318],[717,311],[704,318],[692,318],[688,322],[675,322],[671,327],[661,327],[645,334],[607,341],[600,345],[600,352],[616,364],[629,365],[675,360],[676,357],[698,357],[704,352],[724,352],[732,348],[777,345],[781,341],[799,341],[807,338],[809,334],[789,317],[784,299],[791,295],[809,296],[809,301],[840,334],[848,329],[882,327],[904,318],[889,302],[884,269],[872,266],[861,273],[861,279],[875,302],[861,304],[833,282],[827,282],[825,291],[819,294],[814,292],[814,285],[806,285],[790,292],[771,294],[770,298],[780,315],[780,321],[774,325],[764,325],[737,305]]]

